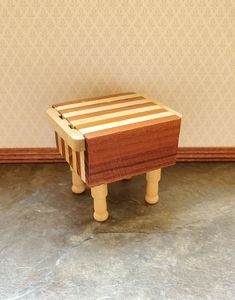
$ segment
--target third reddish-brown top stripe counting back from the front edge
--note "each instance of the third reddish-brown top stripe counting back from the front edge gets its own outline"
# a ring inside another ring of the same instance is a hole
[[[149,102],[149,103],[147,102],[147,103],[135,104],[135,105],[131,105],[131,103],[130,103],[129,106],[120,107],[120,108],[112,108],[112,109],[107,109],[107,110],[102,110],[102,111],[96,111],[93,113],[88,113],[88,114],[84,114],[84,115],[80,115],[80,116],[68,117],[68,118],[66,118],[66,120],[68,120],[68,121],[83,120],[86,118],[102,116],[105,114],[111,114],[111,113],[115,113],[115,112],[119,112],[119,111],[127,111],[127,110],[134,109],[134,108],[142,108],[142,107],[155,106],[155,105],[156,105],[156,103],[153,103],[153,102]]]

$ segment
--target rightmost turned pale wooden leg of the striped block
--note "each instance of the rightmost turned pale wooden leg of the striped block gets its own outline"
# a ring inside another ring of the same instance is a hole
[[[146,195],[145,201],[149,204],[158,202],[158,182],[161,178],[161,169],[146,173]]]

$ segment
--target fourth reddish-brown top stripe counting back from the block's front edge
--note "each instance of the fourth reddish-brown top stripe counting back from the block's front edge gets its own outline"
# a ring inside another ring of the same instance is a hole
[[[92,101],[91,103],[80,103],[79,106],[76,107],[72,107],[72,108],[64,108],[64,109],[58,109],[58,112],[60,114],[66,114],[69,112],[76,112],[76,111],[80,111],[80,110],[85,110],[85,109],[89,109],[89,108],[96,108],[96,107],[103,107],[103,106],[108,106],[111,104],[119,104],[119,103],[127,103],[130,101],[134,101],[134,100],[140,100],[140,99],[145,99],[144,97],[134,97],[134,98],[125,98],[125,99],[118,99],[118,100],[110,100],[110,99],[106,99],[106,102],[102,102],[100,101]],[[66,106],[64,106],[66,107]]]

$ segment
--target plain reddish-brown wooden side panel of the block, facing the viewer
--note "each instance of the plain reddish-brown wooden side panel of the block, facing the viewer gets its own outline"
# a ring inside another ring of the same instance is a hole
[[[116,133],[85,135],[88,186],[175,164],[180,118]]]

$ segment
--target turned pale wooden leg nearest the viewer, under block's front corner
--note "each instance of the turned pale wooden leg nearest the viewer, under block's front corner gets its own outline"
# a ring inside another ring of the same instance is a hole
[[[102,222],[108,219],[107,194],[107,184],[101,184],[91,188],[91,195],[94,199],[94,218],[96,221]]]

